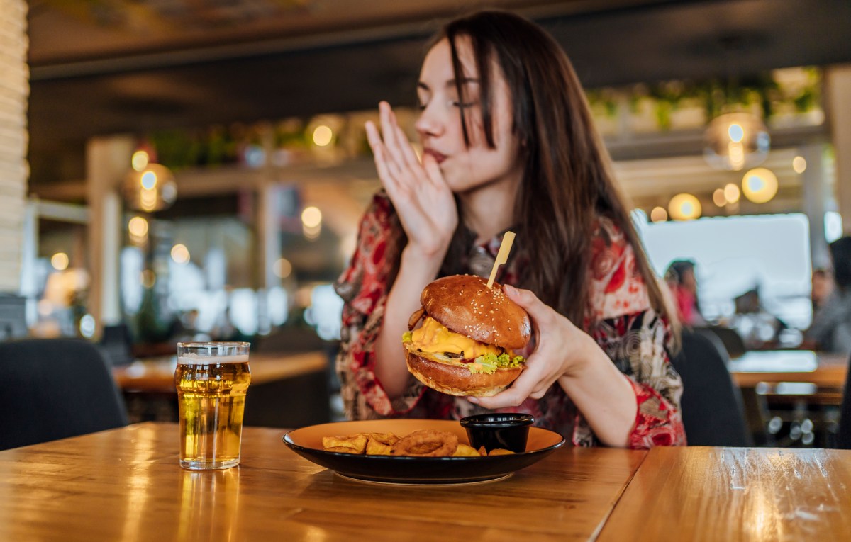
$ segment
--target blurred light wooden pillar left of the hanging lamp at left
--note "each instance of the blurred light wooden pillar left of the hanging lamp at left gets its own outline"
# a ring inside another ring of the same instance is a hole
[[[89,313],[95,336],[121,320],[118,258],[126,225],[119,196],[135,148],[132,136],[93,138],[86,145],[86,199],[89,203]]]

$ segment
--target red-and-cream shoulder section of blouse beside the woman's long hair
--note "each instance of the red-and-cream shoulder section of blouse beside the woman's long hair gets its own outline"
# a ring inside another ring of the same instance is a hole
[[[591,237],[591,317],[597,320],[650,308],[647,285],[625,232],[609,217],[597,217]]]

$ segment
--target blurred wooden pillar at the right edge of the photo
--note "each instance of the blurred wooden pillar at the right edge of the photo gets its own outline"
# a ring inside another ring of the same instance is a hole
[[[825,71],[826,109],[837,165],[837,206],[842,228],[851,234],[851,64]]]

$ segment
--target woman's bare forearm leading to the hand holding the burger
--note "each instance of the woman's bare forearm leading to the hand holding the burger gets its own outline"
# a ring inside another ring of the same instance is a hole
[[[625,448],[636,421],[635,392],[591,336],[582,336],[577,351],[580,363],[558,383],[602,443]]]

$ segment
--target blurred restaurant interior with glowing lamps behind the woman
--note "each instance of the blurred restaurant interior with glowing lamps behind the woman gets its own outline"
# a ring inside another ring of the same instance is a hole
[[[562,43],[698,325],[732,358],[806,347],[851,228],[847,0],[0,0],[0,336],[80,337],[127,378],[181,340],[317,354],[254,421],[339,416],[332,284],[380,187],[363,123],[387,99],[415,139],[428,37],[486,6]],[[174,419],[123,389],[131,420]],[[762,391],[757,441],[830,442],[835,389]]]

